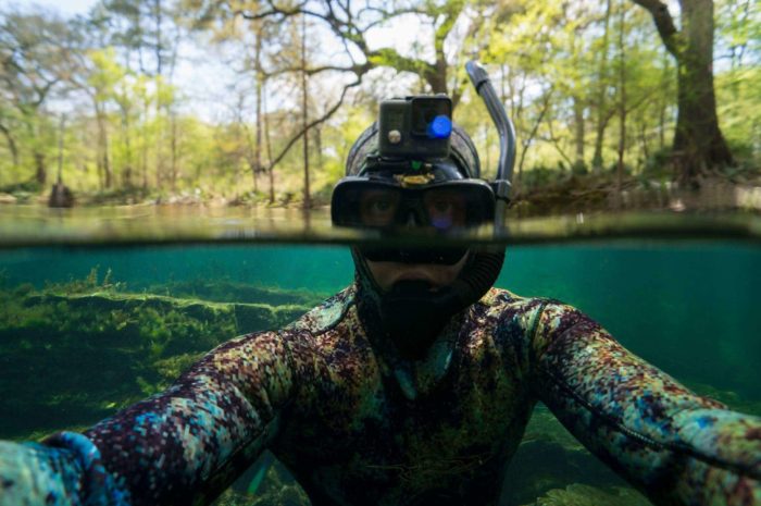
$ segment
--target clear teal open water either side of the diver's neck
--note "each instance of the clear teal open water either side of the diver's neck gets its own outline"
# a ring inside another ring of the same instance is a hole
[[[170,295],[172,283],[227,282],[312,292],[320,298],[345,287],[353,275],[349,250],[340,246],[0,251],[9,288],[84,280],[93,267],[101,279],[111,270],[111,281],[123,283],[122,292]],[[761,400],[759,247],[643,240],[516,246],[508,249],[497,286],[572,304],[676,378]]]

